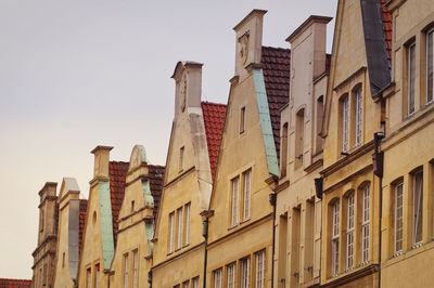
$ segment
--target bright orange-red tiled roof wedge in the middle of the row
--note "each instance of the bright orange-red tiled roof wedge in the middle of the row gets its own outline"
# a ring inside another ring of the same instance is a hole
[[[205,122],[206,144],[208,145],[210,173],[214,179],[225,122],[226,105],[202,102],[202,112]]]

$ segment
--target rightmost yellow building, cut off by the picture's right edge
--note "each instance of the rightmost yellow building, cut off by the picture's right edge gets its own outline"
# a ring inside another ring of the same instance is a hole
[[[382,1],[386,2],[386,1]],[[387,1],[392,81],[385,115],[381,286],[434,283],[434,2]]]

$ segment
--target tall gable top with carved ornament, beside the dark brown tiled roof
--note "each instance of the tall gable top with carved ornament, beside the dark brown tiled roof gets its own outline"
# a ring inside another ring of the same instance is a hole
[[[240,80],[250,75],[248,67],[260,64],[263,49],[263,18],[266,10],[253,10],[235,27],[235,76]]]

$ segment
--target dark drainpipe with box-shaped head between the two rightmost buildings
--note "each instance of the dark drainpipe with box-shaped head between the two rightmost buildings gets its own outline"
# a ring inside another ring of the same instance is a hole
[[[379,227],[379,288],[381,288],[381,246],[382,246],[382,225],[383,225],[383,170],[384,170],[384,153],[380,150],[381,140],[384,139],[385,123],[382,121],[382,131],[373,134],[373,148],[374,152],[372,154],[373,161],[373,173],[379,178],[380,181],[380,227]]]

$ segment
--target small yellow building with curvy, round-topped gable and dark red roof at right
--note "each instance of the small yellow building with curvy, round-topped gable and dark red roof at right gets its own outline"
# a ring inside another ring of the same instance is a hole
[[[144,147],[131,152],[125,195],[117,217],[113,287],[150,287],[155,220],[161,201],[164,167],[149,165]]]

